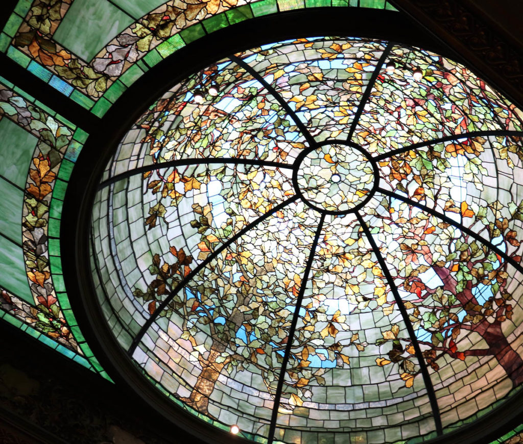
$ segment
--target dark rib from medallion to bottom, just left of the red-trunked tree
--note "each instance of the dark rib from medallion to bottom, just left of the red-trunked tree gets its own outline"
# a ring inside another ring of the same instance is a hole
[[[365,223],[365,220],[361,217],[361,215],[357,212],[356,216],[358,217],[358,221],[361,224],[361,228],[363,228],[363,231],[365,232],[367,239],[369,239],[369,243],[372,247],[372,250],[374,251],[374,254],[376,254],[376,258],[378,259],[378,262],[380,264],[381,270],[383,271],[383,274],[385,275],[385,278],[387,279],[387,282],[389,283],[389,287],[391,288],[392,294],[394,295],[394,299],[396,301],[397,308],[400,310],[401,317],[403,318],[403,322],[405,323],[405,326],[408,331],[408,335],[411,337],[411,342],[415,350],[416,358],[418,360],[419,369],[422,372],[423,376],[423,382],[425,382],[425,388],[427,389],[427,395],[428,399],[430,401],[430,406],[432,407],[432,412],[434,416],[434,423],[436,425],[436,433],[439,435],[443,434],[443,428],[441,426],[441,416],[439,413],[439,406],[438,401],[436,399],[436,392],[434,391],[434,386],[432,384],[432,380],[430,379],[430,375],[428,374],[428,369],[425,364],[425,360],[423,358],[422,350],[419,348],[418,340],[416,337],[416,333],[414,332],[414,328],[412,326],[412,323],[410,319],[408,318],[408,313],[403,305],[403,300],[401,299],[401,296],[399,292],[397,291],[397,287],[394,284],[394,279],[392,278],[389,268],[387,267],[387,264],[385,263],[385,260],[383,259],[383,256],[381,254],[381,251],[379,250],[376,242],[374,241],[374,238],[372,237],[372,233],[370,232],[369,227]]]

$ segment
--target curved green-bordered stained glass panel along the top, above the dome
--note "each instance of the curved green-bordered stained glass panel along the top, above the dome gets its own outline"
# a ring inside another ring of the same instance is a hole
[[[103,116],[151,67],[185,45],[254,17],[309,7],[396,9],[385,0],[19,0],[0,51]]]

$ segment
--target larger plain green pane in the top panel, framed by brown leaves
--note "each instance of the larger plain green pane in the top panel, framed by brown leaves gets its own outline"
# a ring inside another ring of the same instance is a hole
[[[107,0],[75,0],[53,39],[86,62],[134,19]]]

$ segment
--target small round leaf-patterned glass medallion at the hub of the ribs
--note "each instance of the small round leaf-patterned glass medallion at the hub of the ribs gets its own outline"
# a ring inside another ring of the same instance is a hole
[[[331,214],[349,213],[369,200],[374,166],[361,148],[326,143],[303,153],[295,184],[313,208]]]

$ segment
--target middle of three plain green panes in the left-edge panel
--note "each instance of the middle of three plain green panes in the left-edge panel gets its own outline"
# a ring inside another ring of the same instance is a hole
[[[0,179],[0,233],[21,247],[22,245],[22,208],[24,191],[16,188],[4,179]]]

